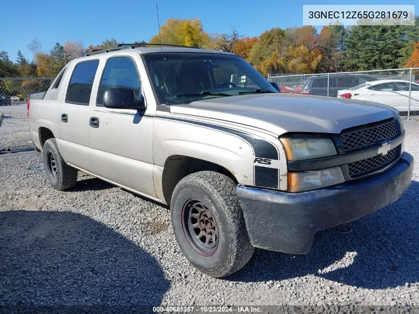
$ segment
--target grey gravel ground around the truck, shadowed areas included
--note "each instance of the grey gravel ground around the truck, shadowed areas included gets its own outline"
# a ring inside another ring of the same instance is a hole
[[[405,126],[419,160],[419,123]],[[418,164],[352,232],[321,231],[305,255],[256,250],[224,279],[183,257],[167,206],[82,173],[58,192],[37,153],[2,155],[0,186],[0,306],[419,305]]]

